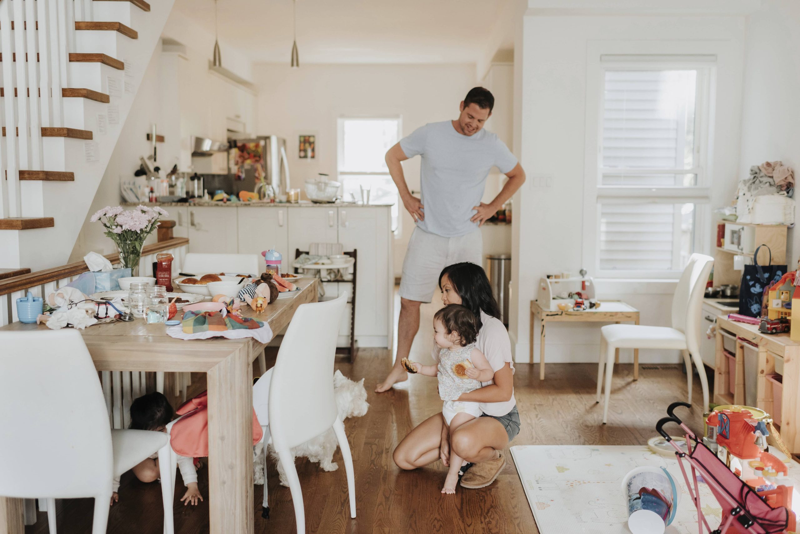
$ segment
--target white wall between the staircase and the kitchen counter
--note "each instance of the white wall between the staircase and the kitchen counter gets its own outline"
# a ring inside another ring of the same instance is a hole
[[[114,252],[114,243],[103,235],[102,225],[91,223],[89,219],[98,209],[106,205],[119,205],[122,201],[119,182],[132,179],[139,167],[139,157],[146,157],[153,152],[146,134],[154,124],[157,125],[158,134],[165,136],[165,142],[157,146],[157,165],[166,171],[176,163],[179,170],[190,170],[190,157],[186,157],[186,151],[191,135],[225,141],[226,117],[229,115],[246,114],[248,116],[242,117],[242,120],[253,130],[256,128],[255,97],[208,70],[208,60],[214,48],[213,35],[173,10],[162,37],[169,38],[170,42],[180,42],[185,49],[178,54],[162,51],[161,43],[156,46],[114,153],[94,194],[89,212],[85,215],[70,262],[80,260],[90,251],[103,254]],[[250,62],[242,59],[243,54],[224,42],[220,46],[222,65],[242,78],[249,78]],[[242,106],[235,106],[237,103]],[[154,165],[151,163],[151,166]],[[154,233],[147,242],[155,239]]]

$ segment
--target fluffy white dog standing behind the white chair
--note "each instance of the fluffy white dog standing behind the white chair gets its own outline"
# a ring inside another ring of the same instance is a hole
[[[345,377],[341,372],[334,373],[334,397],[338,408],[339,419],[342,421],[347,417],[361,417],[366,414],[370,404],[366,402],[366,389],[364,389],[364,379],[354,382]],[[333,428],[322,432],[319,436],[311,438],[306,443],[292,448],[292,456],[307,456],[309,460],[318,462],[326,471],[336,471],[338,465],[334,463],[334,451],[338,447],[338,440]],[[270,454],[278,464],[278,474],[280,475],[281,485],[288,486],[286,472],[278,461],[278,452],[270,444]],[[264,484],[264,456],[262,454],[262,444],[255,446],[253,451],[253,468],[255,484]]]

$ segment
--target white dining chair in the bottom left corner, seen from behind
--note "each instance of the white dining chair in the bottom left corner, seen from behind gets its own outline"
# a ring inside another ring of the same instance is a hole
[[[94,497],[92,534],[106,532],[114,476],[158,451],[164,432],[111,430],[97,371],[74,329],[0,333],[0,495],[45,498],[50,534],[56,499]],[[165,532],[172,494],[162,488]]]

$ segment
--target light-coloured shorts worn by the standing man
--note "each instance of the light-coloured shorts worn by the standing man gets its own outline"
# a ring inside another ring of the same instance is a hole
[[[481,230],[459,237],[442,237],[414,228],[402,262],[400,297],[410,301],[430,302],[447,265],[471,261],[483,266]]]

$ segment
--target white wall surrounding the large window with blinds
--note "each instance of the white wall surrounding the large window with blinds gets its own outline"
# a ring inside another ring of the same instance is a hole
[[[582,265],[581,206],[587,50],[592,43],[630,42],[630,53],[634,54],[642,42],[664,42],[665,52],[670,50],[670,42],[717,42],[724,62],[718,68],[714,184],[730,183],[730,177],[738,173],[743,15],[575,13],[529,10],[514,49],[518,70],[515,109],[519,110],[514,141],[528,176],[514,200],[510,335],[517,361],[528,361],[530,301],[536,297],[538,279],[545,273],[591,269],[590,265]],[[534,178],[542,175],[552,177],[552,186],[534,185]],[[598,297],[629,302],[641,311],[642,324],[646,325],[669,325],[673,291],[674,282],[598,282]],[[538,334],[538,325],[535,328]],[[574,323],[549,327],[547,361],[597,361],[598,328]],[[622,361],[631,357],[623,351]],[[641,360],[678,362],[678,353],[642,351]]]

